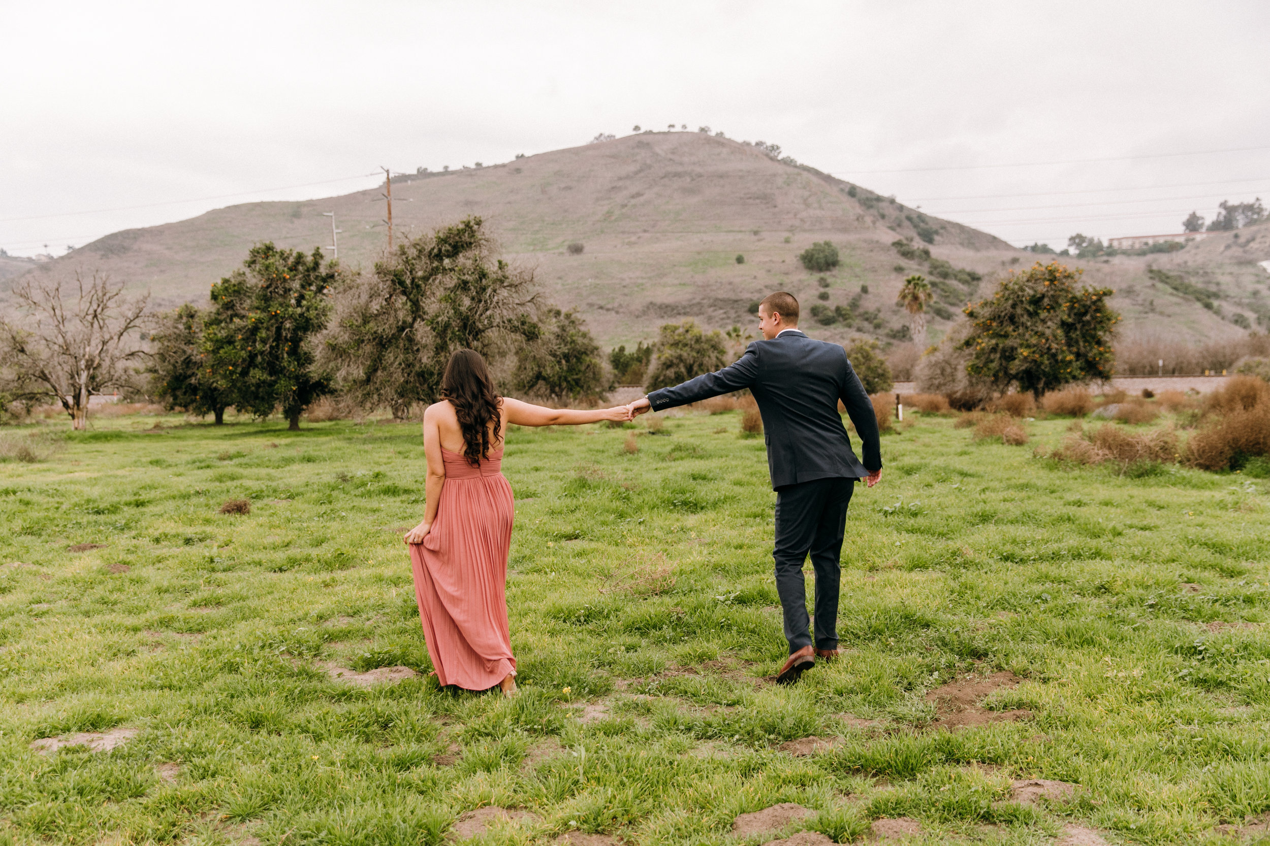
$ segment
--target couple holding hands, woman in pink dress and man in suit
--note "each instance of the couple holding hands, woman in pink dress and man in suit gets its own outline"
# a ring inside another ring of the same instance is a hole
[[[749,388],[763,417],[763,440],[776,491],[776,591],[789,658],[779,684],[798,681],[817,657],[838,654],[838,559],[847,505],[857,481],[881,477],[878,419],[864,386],[837,344],[798,329],[792,294],[770,294],[758,307],[754,341],[716,373],[662,388],[629,406],[598,411],[544,408],[499,397],[481,356],[455,353],[439,402],[423,416],[428,459],[423,523],[405,535],[428,654],[442,685],[516,693],[516,657],[507,621],[507,556],[512,543],[512,487],[500,471],[509,424],[573,426],[625,421],[648,411]],[[862,460],[851,449],[838,401],[855,424]],[[809,629],[803,562],[815,568],[814,627]],[[814,632],[814,637],[813,637]]]

